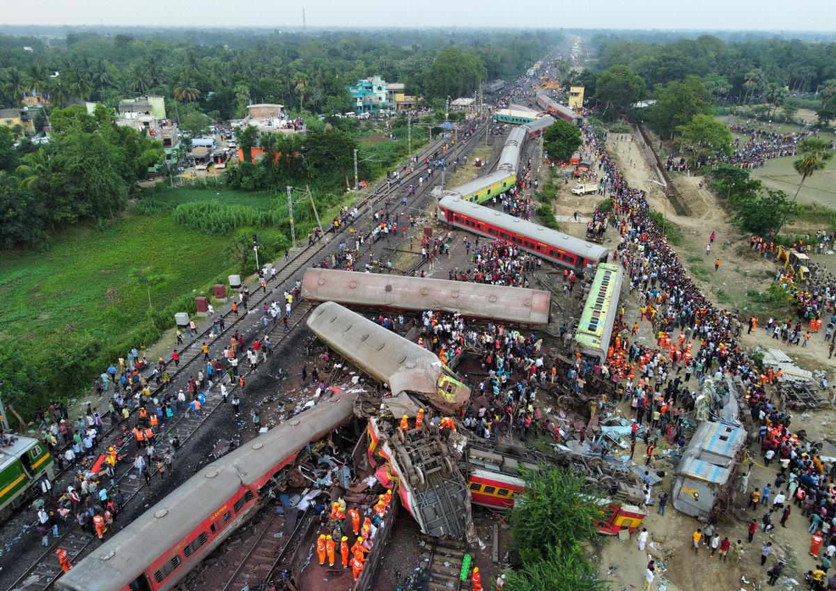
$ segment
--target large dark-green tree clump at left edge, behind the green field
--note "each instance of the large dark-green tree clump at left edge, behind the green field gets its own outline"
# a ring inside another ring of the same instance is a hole
[[[13,147],[0,129],[0,246],[42,241],[48,230],[122,210],[137,179],[162,158],[162,144],[116,125],[102,106],[55,109],[49,144]]]

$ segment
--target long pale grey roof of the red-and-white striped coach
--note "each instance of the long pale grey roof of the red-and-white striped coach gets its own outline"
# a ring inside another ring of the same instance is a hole
[[[509,230],[517,234],[528,236],[534,240],[539,240],[548,245],[557,246],[563,250],[568,250],[576,255],[582,255],[586,259],[601,260],[604,255],[609,253],[609,249],[604,246],[596,245],[580,238],[575,238],[558,230],[551,230],[543,225],[535,224],[522,218],[517,218],[513,215],[502,213],[502,211],[492,210],[489,207],[484,207],[473,203],[472,201],[465,201],[453,196],[446,196],[441,198],[438,202],[441,208],[451,210],[454,213],[468,215],[478,220],[483,220],[490,225],[496,226],[502,230]]]

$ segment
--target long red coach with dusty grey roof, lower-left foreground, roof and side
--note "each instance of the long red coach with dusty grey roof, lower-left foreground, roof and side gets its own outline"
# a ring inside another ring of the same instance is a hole
[[[261,506],[262,488],[354,417],[357,395],[320,402],[212,462],[59,578],[60,591],[167,591]]]

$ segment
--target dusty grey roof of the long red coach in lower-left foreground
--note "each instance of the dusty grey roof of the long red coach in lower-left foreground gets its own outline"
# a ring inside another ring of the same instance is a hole
[[[195,532],[209,512],[220,510],[242,484],[257,480],[283,457],[295,455],[309,441],[347,421],[355,398],[356,394],[344,392],[320,402],[202,468],[64,573],[59,589],[127,588],[151,562]]]

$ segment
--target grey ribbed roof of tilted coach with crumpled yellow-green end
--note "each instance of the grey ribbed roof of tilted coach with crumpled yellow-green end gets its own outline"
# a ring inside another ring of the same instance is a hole
[[[389,384],[393,394],[412,391],[434,403],[449,402],[439,401],[441,360],[424,347],[333,301],[326,301],[308,316],[308,327],[355,366]],[[461,406],[462,402],[452,404]]]

